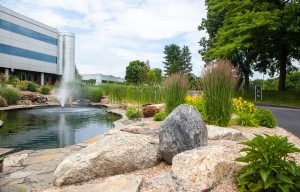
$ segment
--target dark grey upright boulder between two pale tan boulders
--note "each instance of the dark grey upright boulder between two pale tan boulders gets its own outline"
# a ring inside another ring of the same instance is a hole
[[[161,156],[169,164],[178,153],[207,145],[207,128],[201,114],[187,104],[175,108],[158,133]]]

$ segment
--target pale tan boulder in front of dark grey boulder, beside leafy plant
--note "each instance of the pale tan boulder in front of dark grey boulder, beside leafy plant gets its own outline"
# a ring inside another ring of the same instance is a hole
[[[211,191],[222,180],[234,177],[240,166],[236,157],[225,147],[200,147],[176,155],[170,172],[187,190]]]

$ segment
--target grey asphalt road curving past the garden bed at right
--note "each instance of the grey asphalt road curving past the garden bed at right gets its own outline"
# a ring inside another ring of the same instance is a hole
[[[270,106],[258,107],[270,109],[273,112],[279,127],[284,128],[300,138],[300,109]]]

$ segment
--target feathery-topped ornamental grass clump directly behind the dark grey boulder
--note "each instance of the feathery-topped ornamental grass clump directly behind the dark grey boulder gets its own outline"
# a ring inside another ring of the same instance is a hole
[[[162,87],[166,112],[171,113],[178,105],[185,102],[188,91],[187,75],[183,73],[171,74],[165,79]]]

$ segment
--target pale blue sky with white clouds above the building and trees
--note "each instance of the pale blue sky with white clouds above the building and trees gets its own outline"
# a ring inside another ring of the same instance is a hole
[[[204,0],[0,0],[20,14],[75,33],[75,62],[80,74],[124,77],[130,61],[149,60],[164,70],[164,47],[187,45],[193,73],[204,62],[198,31],[206,17]]]

